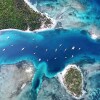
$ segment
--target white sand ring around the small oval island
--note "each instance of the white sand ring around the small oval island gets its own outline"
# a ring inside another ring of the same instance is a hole
[[[65,84],[64,84],[64,82],[63,82],[64,76],[65,76],[65,74],[67,73],[67,71],[68,71],[70,68],[76,68],[77,70],[80,71],[81,76],[82,76],[82,95],[79,96],[79,97],[76,97],[76,96],[72,95],[71,92],[67,89],[67,87],[65,86]],[[82,74],[82,72],[81,72],[81,70],[80,70],[80,68],[79,68],[78,66],[76,66],[76,65],[74,65],[74,64],[73,64],[73,65],[68,65],[68,66],[66,66],[65,69],[64,69],[62,72],[60,72],[60,73],[57,74],[56,78],[57,78],[58,81],[61,83],[61,85],[66,89],[66,91],[67,91],[69,94],[71,94],[74,98],[76,98],[76,99],[81,99],[81,98],[83,97],[83,95],[85,94],[85,91],[83,90],[83,86],[84,86],[84,85],[83,85],[83,74]]]

